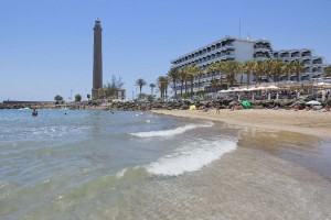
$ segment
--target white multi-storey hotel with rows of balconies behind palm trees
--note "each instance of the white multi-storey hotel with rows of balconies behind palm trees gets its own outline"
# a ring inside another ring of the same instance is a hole
[[[268,40],[250,40],[225,36],[218,41],[207,44],[191,53],[184,54],[171,61],[171,68],[181,69],[185,66],[195,64],[203,69],[207,69],[209,65],[218,61],[237,61],[244,63],[246,61],[259,61],[269,58],[281,58],[287,63],[300,59],[305,64],[305,73],[301,76],[302,81],[310,81],[311,77],[319,76],[323,73],[323,57],[313,56],[310,48],[281,50],[274,51],[270,41]],[[211,92],[211,81],[225,77],[220,73],[206,73],[204,76],[195,77],[194,92],[205,90]],[[253,77],[252,77],[253,78]],[[291,80],[297,80],[296,76],[290,76]],[[239,80],[239,79],[237,79]],[[200,85],[197,85],[200,81]],[[225,80],[224,80],[225,81]],[[177,90],[180,90],[180,84],[177,85]],[[225,85],[224,85],[225,86]]]

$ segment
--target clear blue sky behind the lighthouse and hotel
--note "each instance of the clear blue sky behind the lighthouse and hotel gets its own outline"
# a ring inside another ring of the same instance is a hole
[[[138,78],[156,84],[171,59],[226,35],[312,48],[331,64],[330,9],[331,0],[0,0],[0,102],[87,100],[97,18],[104,84],[121,77],[131,99]]]

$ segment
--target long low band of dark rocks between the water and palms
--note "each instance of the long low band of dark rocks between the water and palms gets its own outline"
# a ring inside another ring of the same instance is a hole
[[[279,100],[249,100],[253,109],[305,109],[306,102],[310,101],[309,97],[300,97],[299,99],[279,99]],[[331,100],[321,101],[322,107],[331,106]],[[242,101],[233,99],[217,99],[209,101],[156,101],[156,102],[132,102],[132,101],[89,101],[89,102],[67,102],[67,103],[0,103],[0,109],[63,109],[71,110],[110,110],[110,111],[146,111],[146,110],[188,110],[194,105],[196,109],[231,109],[239,106]]]

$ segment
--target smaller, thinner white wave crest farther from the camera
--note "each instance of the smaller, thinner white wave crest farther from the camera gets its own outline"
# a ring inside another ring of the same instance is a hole
[[[196,129],[196,128],[209,128],[212,127],[213,122],[204,123],[204,124],[186,124],[184,127],[179,127],[177,129],[163,130],[163,131],[148,131],[148,132],[137,132],[130,133],[134,136],[139,138],[153,138],[153,136],[173,136],[177,134],[184,133],[185,131]]]

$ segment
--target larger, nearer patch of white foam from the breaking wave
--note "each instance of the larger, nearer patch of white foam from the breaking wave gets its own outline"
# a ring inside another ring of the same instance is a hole
[[[179,176],[188,172],[200,170],[203,166],[235,148],[235,140],[201,140],[178,148],[174,153],[159,158],[146,168],[154,175]]]

